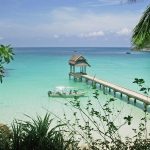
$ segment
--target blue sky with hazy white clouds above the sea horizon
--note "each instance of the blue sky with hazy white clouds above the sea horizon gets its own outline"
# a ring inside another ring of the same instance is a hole
[[[150,0],[0,0],[0,44],[129,47]]]

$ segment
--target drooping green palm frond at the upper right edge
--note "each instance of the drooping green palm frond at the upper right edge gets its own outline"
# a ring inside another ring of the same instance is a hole
[[[150,6],[133,30],[132,45],[135,49],[150,49]]]

